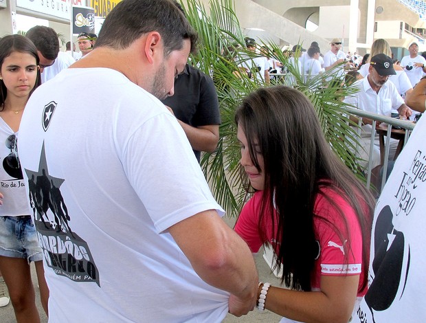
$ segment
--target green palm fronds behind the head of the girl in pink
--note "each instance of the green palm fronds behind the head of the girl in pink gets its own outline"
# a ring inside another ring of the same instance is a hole
[[[200,0],[184,1],[182,5],[186,7],[188,20],[199,33],[199,51],[190,57],[190,63],[212,76],[221,109],[218,146],[214,153],[203,155],[201,166],[218,203],[225,208],[228,216],[236,216],[245,201],[246,191],[240,177],[240,145],[236,140],[234,114],[248,93],[270,85],[262,78],[250,79],[246,71],[238,68],[238,63],[259,54],[245,49],[234,1],[210,0],[210,8],[205,8]],[[301,71],[291,65],[278,45],[271,41],[262,41],[259,45],[266,46],[267,55],[282,62],[287,70],[285,78],[273,80],[271,85],[293,86],[311,100],[330,148],[359,175],[357,160],[348,150],[351,146],[348,140],[353,140],[355,133],[349,126],[352,122],[341,109],[345,105],[342,99],[354,93],[355,89],[341,87],[333,71],[304,80]],[[328,77],[338,82],[326,82]]]

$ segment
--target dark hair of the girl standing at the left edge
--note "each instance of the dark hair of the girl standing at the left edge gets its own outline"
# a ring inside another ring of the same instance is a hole
[[[0,70],[5,58],[10,56],[12,52],[27,53],[34,56],[34,58],[36,58],[36,65],[38,65],[40,61],[38,59],[36,46],[32,43],[32,41],[30,41],[30,39],[17,34],[8,35],[0,39]],[[31,90],[30,95],[38,87],[38,85],[41,85],[40,69],[37,71],[36,84]],[[4,82],[0,81],[0,104],[5,102],[7,95],[8,89],[6,89]]]

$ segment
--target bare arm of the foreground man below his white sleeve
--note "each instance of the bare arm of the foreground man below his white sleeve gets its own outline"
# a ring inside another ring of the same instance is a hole
[[[256,298],[258,274],[249,247],[215,211],[190,216],[169,232],[202,280],[238,298]]]

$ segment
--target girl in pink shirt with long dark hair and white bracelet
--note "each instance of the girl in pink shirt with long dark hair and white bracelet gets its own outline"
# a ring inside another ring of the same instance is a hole
[[[252,252],[271,245],[287,287],[261,282],[258,309],[282,322],[348,322],[367,290],[372,195],[331,151],[300,91],[258,89],[235,120],[256,191],[235,230]]]

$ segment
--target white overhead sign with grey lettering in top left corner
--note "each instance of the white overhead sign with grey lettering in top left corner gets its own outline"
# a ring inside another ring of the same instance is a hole
[[[82,0],[16,0],[16,6],[69,20],[71,1],[82,5]]]

